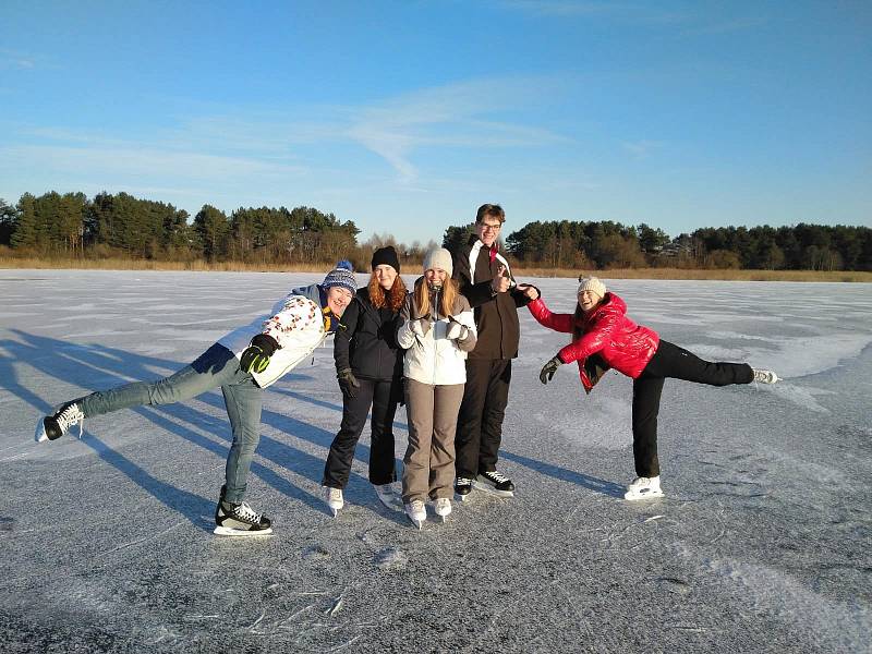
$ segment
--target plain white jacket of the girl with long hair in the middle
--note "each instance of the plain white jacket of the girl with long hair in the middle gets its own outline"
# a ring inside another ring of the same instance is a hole
[[[415,288],[426,283],[423,277],[415,282]],[[431,294],[431,306],[435,306],[436,295]],[[450,316],[436,315],[431,319],[429,329],[422,337],[412,330],[413,319],[420,317],[414,294],[405,299],[402,323],[397,330],[397,343],[405,350],[403,376],[433,386],[447,386],[467,383],[467,352],[475,347],[477,331],[475,318],[469,301],[458,294]],[[451,340],[446,337],[450,323],[460,323],[468,327],[464,339]]]

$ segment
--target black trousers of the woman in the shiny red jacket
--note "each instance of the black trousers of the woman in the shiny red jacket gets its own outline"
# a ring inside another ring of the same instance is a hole
[[[754,372],[747,363],[711,363],[692,352],[662,340],[638,379],[633,379],[633,458],[635,474],[652,477],[661,473],[657,459],[657,413],[666,377],[727,386],[750,384]]]

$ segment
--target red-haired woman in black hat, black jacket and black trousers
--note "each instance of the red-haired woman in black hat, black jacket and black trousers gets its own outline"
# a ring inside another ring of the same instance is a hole
[[[324,467],[324,499],[336,516],[344,505],[354,448],[373,409],[370,482],[378,499],[402,510],[393,488],[393,414],[402,398],[402,355],[396,334],[405,301],[400,262],[393,247],[373,253],[373,275],[346,308],[334,341],[337,378],[342,389],[342,424]]]

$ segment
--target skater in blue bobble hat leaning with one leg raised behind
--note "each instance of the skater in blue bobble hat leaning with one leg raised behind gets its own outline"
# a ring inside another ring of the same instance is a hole
[[[52,415],[39,419],[36,441],[60,438],[76,424],[81,438],[86,417],[142,404],[181,402],[220,386],[233,443],[215,510],[215,533],[270,534],[270,520],[243,501],[261,439],[263,389],[336,331],[356,289],[351,264],[339,262],[320,284],[294,289],[267,316],[222,337],[175,374],[157,382],[125,384],[61,404]]]

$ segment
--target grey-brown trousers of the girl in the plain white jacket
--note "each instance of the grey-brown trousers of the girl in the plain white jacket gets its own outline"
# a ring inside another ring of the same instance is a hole
[[[403,457],[402,500],[453,496],[455,432],[463,384],[431,386],[405,379],[409,448]]]

